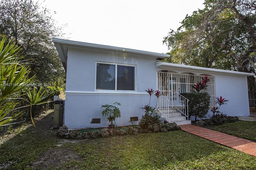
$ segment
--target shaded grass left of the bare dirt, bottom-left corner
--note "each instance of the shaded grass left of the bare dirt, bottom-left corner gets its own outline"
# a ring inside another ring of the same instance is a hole
[[[55,136],[35,133],[32,128],[18,133],[0,145],[0,164],[12,164],[8,169],[26,168],[40,153],[56,147]]]

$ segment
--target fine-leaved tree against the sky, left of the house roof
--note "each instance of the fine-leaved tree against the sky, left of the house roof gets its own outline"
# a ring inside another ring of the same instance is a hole
[[[43,84],[63,82],[64,68],[52,43],[62,33],[49,11],[32,0],[1,0],[0,11],[0,36],[14,41],[32,61],[29,77]]]

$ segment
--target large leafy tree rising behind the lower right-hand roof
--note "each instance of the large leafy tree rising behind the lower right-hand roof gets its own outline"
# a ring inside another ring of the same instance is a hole
[[[205,0],[204,4],[164,38],[171,49],[166,61],[255,73],[256,2]],[[254,83],[254,77],[248,77],[250,99]]]

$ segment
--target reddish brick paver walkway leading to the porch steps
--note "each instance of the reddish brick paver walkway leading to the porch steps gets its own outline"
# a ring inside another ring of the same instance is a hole
[[[218,144],[240,150],[244,153],[256,156],[256,143],[243,138],[238,138],[229,134],[222,132],[217,132],[215,130],[210,130],[208,128],[198,127],[194,125],[179,125],[183,131],[189,132],[196,136],[206,138]]]

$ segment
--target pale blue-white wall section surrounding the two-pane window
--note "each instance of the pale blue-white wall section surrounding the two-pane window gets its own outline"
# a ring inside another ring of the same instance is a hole
[[[124,58],[125,57],[125,58]],[[156,90],[156,58],[78,47],[68,48],[66,70],[66,101],[64,124],[69,128],[108,127],[107,117],[103,117],[101,105],[121,103],[121,118],[117,126],[131,125],[130,117],[140,119],[142,109],[149,102],[145,89]],[[96,91],[96,62],[136,65],[135,91]],[[156,105],[152,96],[151,106]],[[100,124],[90,124],[90,119],[100,118]]]

